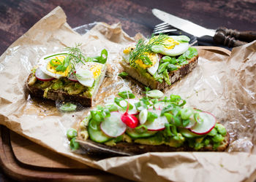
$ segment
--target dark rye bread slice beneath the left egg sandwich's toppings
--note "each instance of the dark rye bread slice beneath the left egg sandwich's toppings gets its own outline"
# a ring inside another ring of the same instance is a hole
[[[107,68],[106,66],[104,66],[102,68],[102,74],[100,75],[99,82],[98,82],[97,86],[94,87],[91,98],[88,98],[84,95],[69,95],[68,92],[66,92],[64,90],[48,90],[47,98],[45,98],[45,99],[61,100],[61,101],[72,102],[72,103],[80,103],[82,106],[85,106],[85,107],[93,106],[94,98],[96,97],[99,87],[102,84],[103,79],[105,78],[105,72],[107,70],[106,68]],[[26,87],[29,90],[29,94],[32,97],[44,98],[43,97],[44,92],[45,92],[44,90],[34,87],[33,84],[32,85],[29,84],[32,76],[33,76],[32,73],[29,74],[29,77],[26,81]]]

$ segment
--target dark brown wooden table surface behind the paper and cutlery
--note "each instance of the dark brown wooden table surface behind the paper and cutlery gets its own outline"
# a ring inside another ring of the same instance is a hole
[[[255,0],[1,0],[0,54],[56,6],[67,14],[72,28],[94,21],[121,22],[129,36],[150,36],[154,25],[162,23],[151,13],[157,8],[191,20],[206,28],[226,26],[238,31],[256,31]],[[0,181],[11,181],[0,170]]]

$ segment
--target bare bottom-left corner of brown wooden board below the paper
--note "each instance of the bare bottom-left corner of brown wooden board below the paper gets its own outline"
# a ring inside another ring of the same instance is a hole
[[[127,181],[38,146],[0,126],[0,181]]]

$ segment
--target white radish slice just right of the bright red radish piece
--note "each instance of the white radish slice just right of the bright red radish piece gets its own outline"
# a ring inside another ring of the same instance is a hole
[[[154,122],[146,122],[145,125],[149,131],[159,131],[165,129],[165,123],[168,123],[165,116],[160,116],[161,110],[152,110],[152,113],[157,114],[157,119]]]

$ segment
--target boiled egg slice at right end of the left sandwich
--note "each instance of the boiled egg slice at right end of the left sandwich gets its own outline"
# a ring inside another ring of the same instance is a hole
[[[78,82],[86,87],[92,87],[95,79],[102,73],[102,66],[101,63],[95,62],[78,64],[75,68]]]

